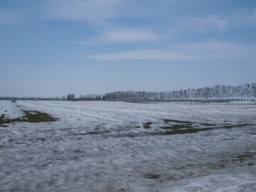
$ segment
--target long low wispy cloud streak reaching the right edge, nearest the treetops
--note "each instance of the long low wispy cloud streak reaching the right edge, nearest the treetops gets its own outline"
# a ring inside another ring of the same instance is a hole
[[[103,61],[116,60],[164,60],[164,61],[202,61],[212,59],[255,60],[256,46],[220,41],[200,43],[180,43],[169,49],[147,49],[117,53],[84,55]]]

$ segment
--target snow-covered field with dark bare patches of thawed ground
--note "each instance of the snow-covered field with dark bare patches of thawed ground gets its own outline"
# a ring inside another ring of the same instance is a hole
[[[22,109],[58,120],[0,125],[0,191],[256,191],[255,105],[0,101]]]

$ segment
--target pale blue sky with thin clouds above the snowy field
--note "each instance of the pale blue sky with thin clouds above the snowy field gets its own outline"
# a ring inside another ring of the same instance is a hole
[[[256,82],[254,0],[0,0],[0,96]]]

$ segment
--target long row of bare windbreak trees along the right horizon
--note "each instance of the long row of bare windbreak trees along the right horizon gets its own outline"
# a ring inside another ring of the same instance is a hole
[[[106,93],[105,97],[107,101],[251,104],[256,103],[256,83],[215,85],[169,92],[117,91]]]

